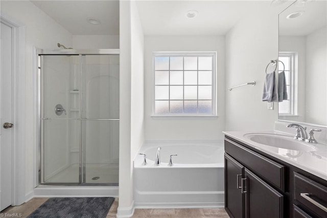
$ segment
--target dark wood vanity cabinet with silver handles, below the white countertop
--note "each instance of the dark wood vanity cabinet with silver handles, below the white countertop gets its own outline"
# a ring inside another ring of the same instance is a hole
[[[225,137],[230,217],[327,217],[327,181]]]

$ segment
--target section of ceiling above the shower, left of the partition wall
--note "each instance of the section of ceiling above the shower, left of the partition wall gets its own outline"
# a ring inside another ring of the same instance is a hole
[[[31,1],[73,35],[119,35],[119,1]],[[88,23],[88,17],[101,24]]]

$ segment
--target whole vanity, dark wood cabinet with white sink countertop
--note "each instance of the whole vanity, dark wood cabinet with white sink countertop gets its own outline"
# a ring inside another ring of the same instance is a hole
[[[327,146],[279,132],[225,132],[230,217],[327,217]]]

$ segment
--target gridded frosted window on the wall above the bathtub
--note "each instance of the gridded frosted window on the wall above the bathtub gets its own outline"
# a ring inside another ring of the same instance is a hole
[[[154,115],[216,115],[216,52],[156,52]]]

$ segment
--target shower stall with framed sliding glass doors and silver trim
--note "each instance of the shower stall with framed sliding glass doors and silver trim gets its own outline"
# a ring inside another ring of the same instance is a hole
[[[39,184],[118,185],[119,50],[38,53]]]

